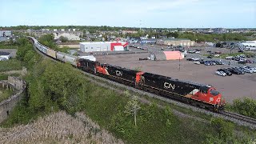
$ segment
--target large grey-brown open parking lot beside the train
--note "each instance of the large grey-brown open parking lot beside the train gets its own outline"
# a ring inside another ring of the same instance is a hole
[[[154,46],[152,46],[154,47]],[[131,48],[133,50],[134,48]],[[159,48],[154,48],[159,50]],[[160,48],[161,49],[161,48]],[[223,49],[226,50],[226,49]],[[230,50],[226,50],[229,52]],[[130,69],[139,69],[142,71],[162,74],[170,78],[178,78],[185,81],[209,84],[217,88],[227,102],[233,102],[234,98],[250,97],[256,98],[256,73],[242,74],[228,77],[221,77],[215,73],[216,70],[226,68],[226,65],[205,66],[196,65],[194,62],[182,59],[172,61],[139,61],[139,58],[146,58],[150,53],[141,54],[109,54],[96,55],[97,61],[110,63],[116,66],[122,66]],[[196,57],[202,57],[201,54]],[[228,61],[227,61],[228,62]]]

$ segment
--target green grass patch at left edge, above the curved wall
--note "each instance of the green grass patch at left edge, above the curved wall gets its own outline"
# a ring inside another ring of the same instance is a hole
[[[22,62],[16,58],[10,58],[7,61],[0,61],[0,72],[10,70],[22,70]]]

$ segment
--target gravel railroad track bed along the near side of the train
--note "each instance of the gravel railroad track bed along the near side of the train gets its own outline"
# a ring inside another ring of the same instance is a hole
[[[45,54],[42,54],[35,46],[34,46],[34,50],[36,50],[36,52],[38,54],[42,55],[42,57],[50,58],[50,57],[46,56]],[[54,62],[58,62],[54,58],[50,58],[50,60],[52,60]],[[183,102],[178,102],[178,101],[172,100],[170,98],[164,98],[164,97],[159,96],[158,94],[153,94],[153,93],[150,93],[150,92],[138,90],[138,89],[135,89],[134,87],[131,87],[131,86],[126,86],[126,85],[120,84],[118,82],[113,82],[113,81],[110,81],[109,79],[98,77],[97,75],[86,73],[85,71],[82,71],[82,70],[80,70],[80,71],[82,72],[82,74],[86,74],[87,76],[89,76],[89,78],[87,77],[87,79],[90,82],[94,82],[95,84],[97,84],[99,86],[106,87],[105,85],[107,84],[108,87],[110,85],[112,85],[112,86],[117,86],[117,87],[120,87],[120,88],[125,88],[126,90],[131,90],[131,91],[133,91],[134,93],[137,93],[137,94],[142,94],[142,95],[146,94],[150,98],[158,98],[159,100],[162,100],[164,102],[173,103],[173,104],[176,104],[178,106],[186,107],[186,108],[191,109],[193,111],[202,112],[204,114],[214,115],[215,117],[221,117],[221,118],[224,118],[226,120],[235,122],[238,125],[250,126],[250,128],[256,129],[256,119],[254,119],[254,118],[246,117],[244,115],[235,114],[235,113],[228,112],[228,111],[221,111],[219,113],[215,113],[215,112],[212,112],[210,110],[205,110],[205,109],[199,108],[198,106],[191,106],[189,104],[186,104],[186,103],[183,103]],[[106,83],[104,85],[104,84],[102,84],[102,82],[96,82],[97,80],[100,80],[100,81],[103,81],[103,82],[106,82]],[[115,88],[113,87],[113,90],[114,89]],[[121,92],[120,90],[116,90],[116,91],[118,91],[119,93]]]

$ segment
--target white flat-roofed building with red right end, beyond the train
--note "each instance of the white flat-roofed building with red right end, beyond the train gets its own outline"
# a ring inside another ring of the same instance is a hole
[[[128,42],[80,42],[80,51],[123,51],[127,46]]]

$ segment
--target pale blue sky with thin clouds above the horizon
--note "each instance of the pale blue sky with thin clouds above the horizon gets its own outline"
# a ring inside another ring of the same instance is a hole
[[[0,26],[256,28],[256,0],[4,0]]]

